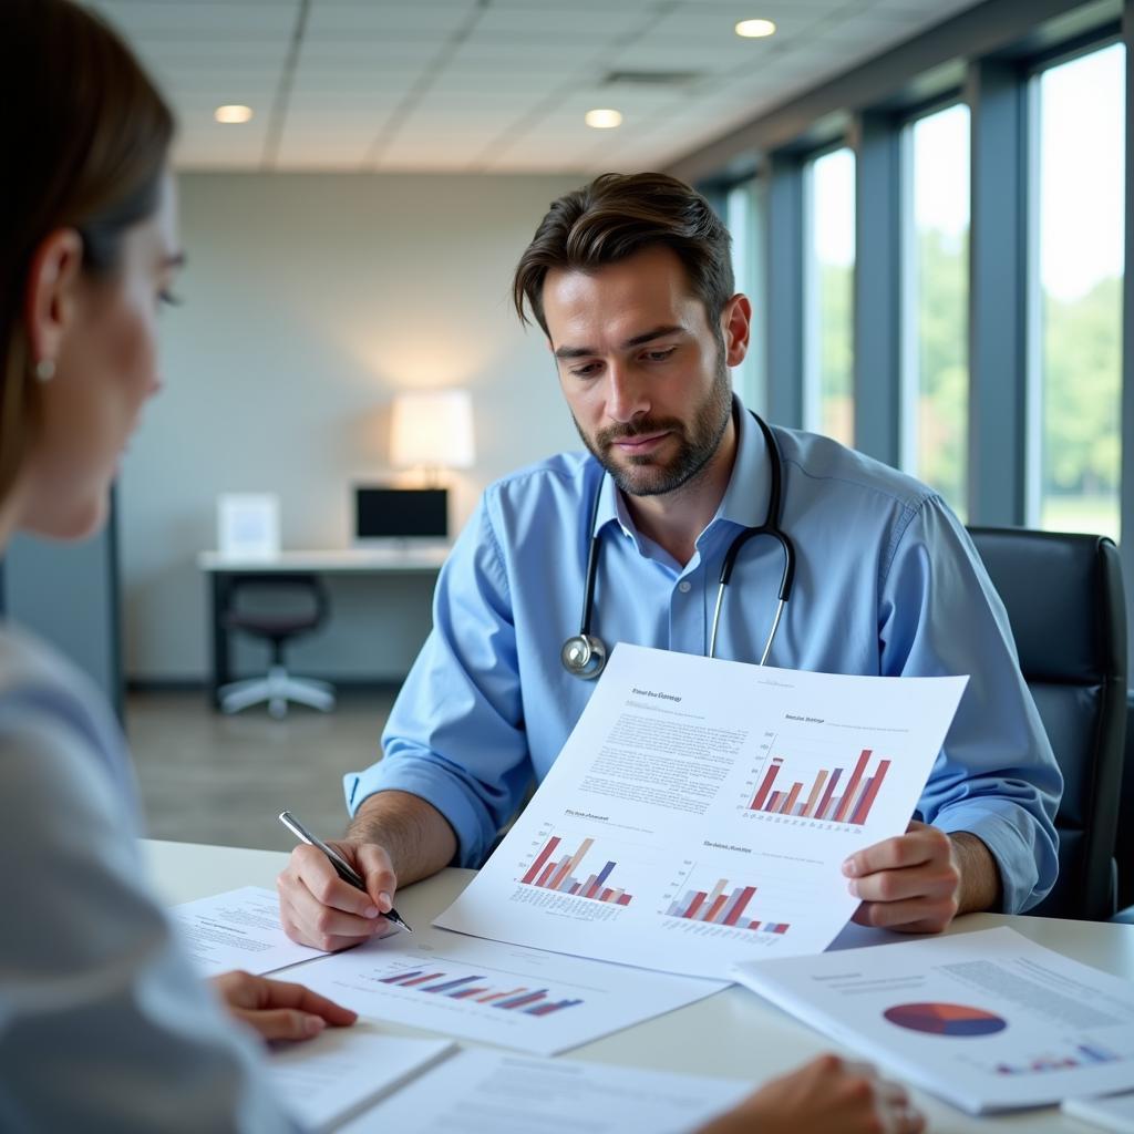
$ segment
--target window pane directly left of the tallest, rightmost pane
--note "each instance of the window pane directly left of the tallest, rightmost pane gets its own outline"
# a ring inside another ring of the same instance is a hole
[[[966,511],[968,435],[968,108],[903,136],[902,464]]]

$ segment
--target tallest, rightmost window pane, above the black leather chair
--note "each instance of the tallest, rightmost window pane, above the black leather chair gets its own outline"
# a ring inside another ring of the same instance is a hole
[[[1124,50],[1033,81],[1030,522],[1117,539]]]

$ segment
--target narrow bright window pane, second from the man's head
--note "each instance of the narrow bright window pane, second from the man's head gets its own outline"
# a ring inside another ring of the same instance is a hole
[[[854,154],[804,175],[804,426],[854,443]]]

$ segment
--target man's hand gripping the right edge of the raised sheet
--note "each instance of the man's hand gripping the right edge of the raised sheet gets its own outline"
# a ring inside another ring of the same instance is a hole
[[[999,900],[996,862],[975,835],[916,821],[905,835],[850,855],[843,873],[862,898],[854,921],[903,933],[940,933],[958,913]]]

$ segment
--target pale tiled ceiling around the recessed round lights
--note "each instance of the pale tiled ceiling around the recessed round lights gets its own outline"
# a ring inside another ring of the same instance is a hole
[[[2,0],[0,0],[2,2]],[[279,168],[591,171],[657,164],[972,0],[311,0]],[[167,88],[181,166],[259,169],[299,0],[93,0]],[[744,41],[737,19],[780,29]],[[455,37],[467,33],[456,42]],[[612,69],[693,70],[682,86]],[[221,102],[257,117],[211,121]],[[585,110],[612,105],[602,134]],[[397,128],[386,137],[382,130]],[[416,167],[414,163],[418,163]],[[243,163],[243,167],[242,167]]]

